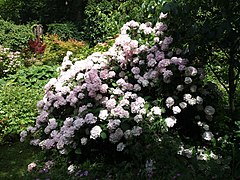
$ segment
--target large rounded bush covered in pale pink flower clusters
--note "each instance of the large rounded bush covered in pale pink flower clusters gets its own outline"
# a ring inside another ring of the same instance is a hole
[[[181,58],[180,49],[170,49],[164,18],[127,22],[107,52],[84,60],[68,51],[59,77],[46,84],[38,102],[36,125],[21,132],[21,141],[32,134],[31,144],[62,154],[99,142],[123,151],[148,126],[183,136],[193,126],[211,140],[207,122],[215,109],[204,100],[203,70]]]

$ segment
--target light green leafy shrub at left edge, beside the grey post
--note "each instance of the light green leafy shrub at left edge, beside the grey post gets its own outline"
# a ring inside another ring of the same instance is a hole
[[[0,19],[0,44],[13,50],[27,47],[29,39],[34,37],[29,25],[15,25]]]

